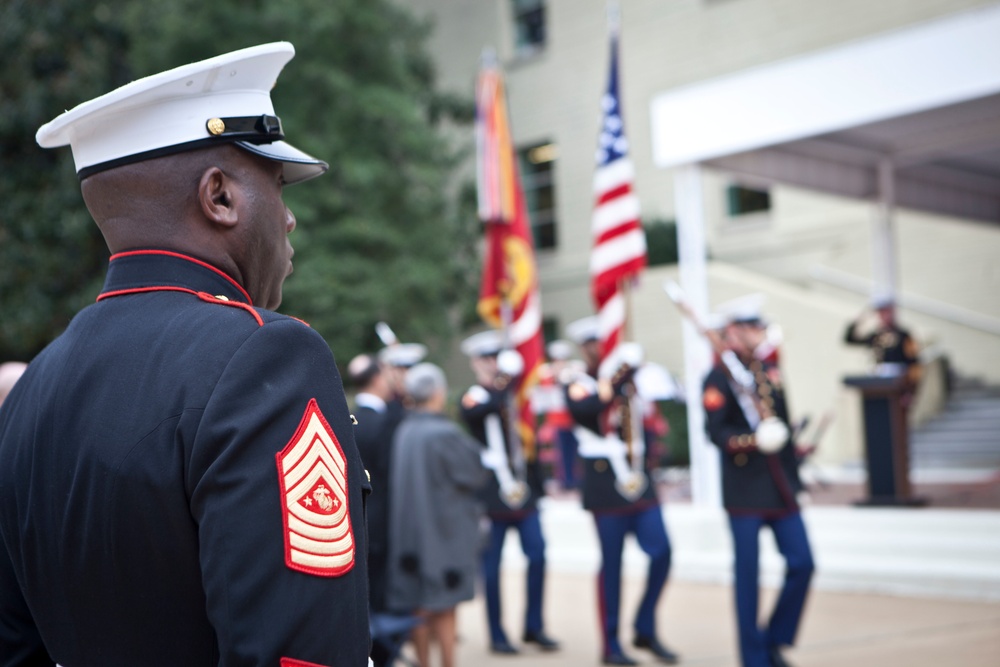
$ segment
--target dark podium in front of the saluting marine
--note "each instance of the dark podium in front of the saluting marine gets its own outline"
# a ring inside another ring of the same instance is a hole
[[[919,506],[910,488],[910,443],[901,399],[906,380],[900,374],[859,375],[844,384],[861,392],[865,423],[868,497],[857,505]]]

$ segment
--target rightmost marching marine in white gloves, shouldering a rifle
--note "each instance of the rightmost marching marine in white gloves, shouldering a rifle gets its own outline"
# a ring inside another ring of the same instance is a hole
[[[723,504],[735,552],[736,617],[744,667],[785,667],[814,570],[799,509],[799,481],[781,374],[758,350],[766,341],[759,300],[720,306],[723,341],[736,359],[718,359],[705,378],[707,431],[721,452]],[[764,357],[764,358],[761,358]],[[785,580],[763,627],[759,613],[759,534],[767,526],[785,559]]]

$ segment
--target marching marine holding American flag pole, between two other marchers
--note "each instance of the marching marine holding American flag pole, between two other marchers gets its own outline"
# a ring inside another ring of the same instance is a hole
[[[596,317],[571,323],[567,335],[580,346],[587,363],[587,372],[567,385],[566,403],[584,459],[583,506],[593,513],[601,542],[601,659],[606,665],[638,664],[618,638],[622,549],[626,535],[632,533],[649,556],[633,645],[650,651],[660,662],[675,664],[678,655],[660,642],[656,632],[656,606],[670,574],[671,549],[650,477],[651,438],[643,428],[646,406],[634,382],[641,348],[623,344],[619,349],[624,356],[612,355],[601,364]]]

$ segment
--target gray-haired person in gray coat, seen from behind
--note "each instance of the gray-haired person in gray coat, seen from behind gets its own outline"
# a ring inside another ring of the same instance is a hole
[[[432,638],[442,666],[453,667],[455,607],[475,595],[482,516],[476,491],[487,472],[479,445],[443,414],[448,388],[441,369],[414,366],[406,389],[415,408],[393,438],[387,603],[424,618],[413,631],[422,667],[429,667]]]

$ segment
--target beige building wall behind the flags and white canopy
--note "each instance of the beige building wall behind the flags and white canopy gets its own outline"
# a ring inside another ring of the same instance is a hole
[[[397,2],[433,23],[431,50],[444,88],[472,96],[482,49],[496,49],[515,142],[557,145],[559,244],[538,256],[543,310],[563,325],[591,314],[591,179],[608,67],[606,3],[548,0],[545,48],[518,58],[510,0]],[[656,94],[991,4],[996,0],[621,0],[622,106],[644,219],[669,220],[674,211],[673,174],[652,163]],[[458,140],[473,142],[471,133]],[[857,460],[857,397],[840,380],[869,362],[841,338],[867,302],[874,207],[776,186],[769,212],[731,218],[725,189],[733,182],[705,170],[710,303],[767,294],[767,315],[785,331],[793,409],[814,419],[837,413],[819,459]],[[929,350],[943,350],[960,374],[1000,383],[1000,226],[899,211],[896,241],[904,325]],[[676,267],[648,271],[633,312],[649,357],[679,373],[680,320],[662,289],[675,276]]]

